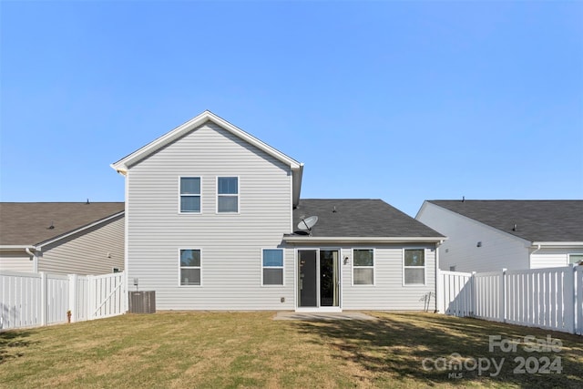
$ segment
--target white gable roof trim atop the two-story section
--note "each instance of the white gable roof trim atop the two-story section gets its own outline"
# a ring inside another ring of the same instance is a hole
[[[289,166],[292,169],[293,175],[292,178],[293,205],[295,206],[298,204],[300,200],[300,192],[302,189],[303,164],[283,154],[280,150],[272,148],[267,143],[262,142],[260,139],[253,137],[251,134],[243,131],[242,129],[230,124],[227,120],[218,117],[209,110],[202,112],[199,116],[190,119],[189,121],[180,125],[177,128],[172,129],[171,131],[161,136],[160,138],[157,138],[154,141],[148,143],[148,145],[144,146],[143,148],[139,148],[138,150],[129,154],[127,157],[124,157],[123,159],[119,159],[117,162],[112,163],[111,167],[113,169],[116,169],[118,173],[125,175],[128,169],[131,169],[131,167],[137,164],[139,161],[148,158],[148,156],[157,152],[160,148],[164,148],[169,144],[177,141],[179,138],[182,138],[183,136],[188,134],[189,131],[192,131],[195,128],[199,128],[208,121],[216,124],[217,126],[220,126],[220,128],[229,131],[231,134],[243,139],[252,146],[261,149],[274,159],[278,159],[287,166]]]

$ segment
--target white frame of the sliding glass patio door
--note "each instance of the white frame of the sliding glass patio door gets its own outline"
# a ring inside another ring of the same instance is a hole
[[[301,307],[300,305],[300,251],[316,251],[316,302],[320,305],[320,251],[338,251],[338,306],[337,307]],[[296,312],[343,312],[343,261],[340,247],[299,247],[293,258],[293,295]]]

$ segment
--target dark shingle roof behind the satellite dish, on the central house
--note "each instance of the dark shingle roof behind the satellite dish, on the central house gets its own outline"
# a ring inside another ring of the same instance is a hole
[[[383,200],[302,199],[293,210],[294,229],[312,215],[318,217],[314,237],[443,237]]]

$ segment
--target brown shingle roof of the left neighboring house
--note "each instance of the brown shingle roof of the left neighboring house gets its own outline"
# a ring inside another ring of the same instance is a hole
[[[123,211],[123,202],[2,202],[0,245],[49,241]],[[49,227],[51,224],[53,229]]]

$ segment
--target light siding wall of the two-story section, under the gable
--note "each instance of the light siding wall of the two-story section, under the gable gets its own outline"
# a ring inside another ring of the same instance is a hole
[[[218,214],[217,177],[239,177],[238,214]],[[179,213],[179,177],[200,177],[201,212]],[[292,226],[292,170],[210,122],[129,167],[128,289],[159,310],[294,308],[293,250],[284,285],[261,286],[261,249]],[[179,286],[179,249],[201,251],[201,285]],[[281,298],[285,302],[281,302]]]

